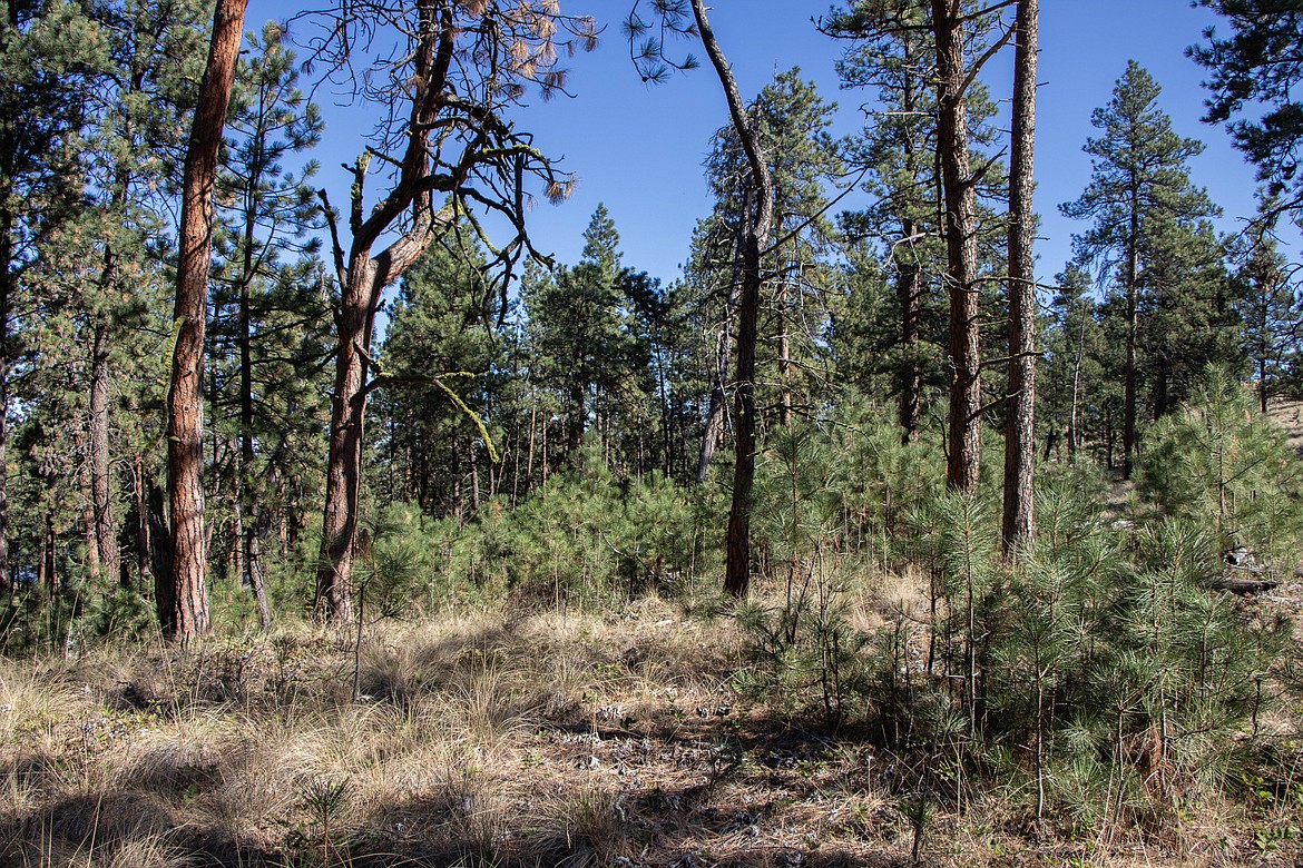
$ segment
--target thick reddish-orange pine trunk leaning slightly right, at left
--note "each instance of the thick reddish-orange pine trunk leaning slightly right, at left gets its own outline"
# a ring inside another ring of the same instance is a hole
[[[208,631],[203,532],[203,327],[212,246],[212,186],[248,0],[218,0],[199,107],[190,129],[181,199],[177,259],[176,347],[168,401],[168,501],[172,613],[160,612],[169,638],[189,642]],[[162,604],[162,601],[160,601]]]

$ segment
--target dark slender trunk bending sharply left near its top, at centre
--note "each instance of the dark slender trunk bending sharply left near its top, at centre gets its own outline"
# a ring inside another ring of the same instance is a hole
[[[756,338],[760,314],[761,255],[769,246],[774,219],[774,185],[756,131],[747,117],[732,69],[715,42],[704,0],[692,0],[692,12],[701,43],[715,68],[728,115],[751,167],[756,208],[745,213],[747,238],[743,247],[741,295],[737,305],[737,377],[734,398],[734,428],[737,458],[734,466],[732,506],[728,510],[728,557],[724,590],[735,597],[747,596],[751,586],[751,489],[756,476]]]

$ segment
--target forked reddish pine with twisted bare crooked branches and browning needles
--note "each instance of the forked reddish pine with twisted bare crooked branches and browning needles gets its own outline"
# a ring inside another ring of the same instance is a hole
[[[341,293],[314,600],[321,618],[352,610],[362,423],[366,396],[375,388],[369,367],[380,294],[420,259],[439,228],[457,215],[469,217],[472,208],[504,216],[515,230],[516,237],[498,247],[498,260],[520,256],[528,247],[525,178],[541,180],[552,200],[566,198],[571,185],[504,112],[520,102],[529,83],[545,95],[563,88],[559,56],[567,48],[590,49],[597,43],[592,20],[563,16],[555,0],[512,7],[367,0],[345,12],[334,31],[334,60],[340,65],[352,62],[360,39],[369,38],[373,46],[392,39],[403,49],[397,61],[371,70],[360,85],[364,95],[392,107],[394,122],[384,130],[388,135],[353,167],[347,250],[331,220]],[[380,53],[388,51],[386,46]],[[394,152],[386,146],[394,146]],[[364,194],[373,154],[380,154],[390,168],[391,185],[367,211]],[[450,203],[433,206],[434,193]],[[392,241],[375,252],[383,238]]]

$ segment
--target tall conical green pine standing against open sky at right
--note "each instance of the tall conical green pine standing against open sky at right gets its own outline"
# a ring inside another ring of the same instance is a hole
[[[1173,131],[1171,118],[1157,105],[1160,92],[1144,68],[1127,62],[1113,99],[1091,116],[1101,131],[1083,148],[1093,157],[1091,183],[1076,202],[1059,206],[1068,217],[1093,221],[1074,238],[1075,250],[1084,262],[1100,265],[1101,275],[1114,276],[1124,299],[1122,450],[1128,478],[1138,446],[1140,277],[1147,233],[1165,219],[1188,224],[1214,212],[1203,189],[1191,183],[1186,167],[1204,146]]]

